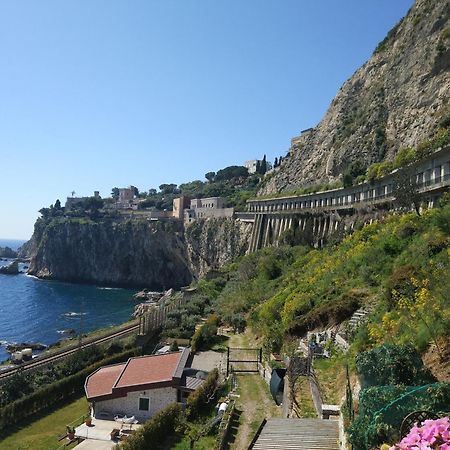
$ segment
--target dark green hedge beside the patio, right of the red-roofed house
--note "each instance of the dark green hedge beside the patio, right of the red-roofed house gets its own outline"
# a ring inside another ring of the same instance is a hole
[[[152,450],[161,448],[161,444],[167,437],[174,434],[181,417],[181,405],[172,403],[130,435],[123,444],[117,445],[116,449]]]

